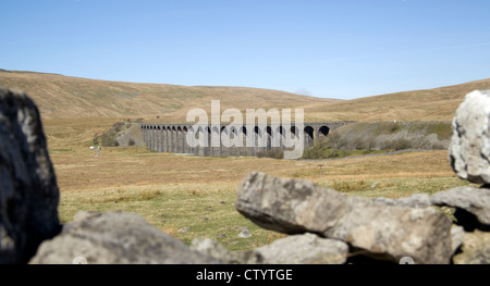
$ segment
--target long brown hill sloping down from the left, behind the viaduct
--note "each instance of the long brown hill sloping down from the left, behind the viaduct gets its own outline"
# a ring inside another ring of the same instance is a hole
[[[135,84],[0,70],[0,86],[26,91],[44,119],[143,117],[148,121],[185,122],[187,111],[210,112],[211,100],[221,109],[299,108],[338,100],[248,87],[189,87]]]

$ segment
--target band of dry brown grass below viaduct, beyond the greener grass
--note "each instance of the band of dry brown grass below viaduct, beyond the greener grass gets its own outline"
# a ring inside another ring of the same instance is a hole
[[[454,178],[448,151],[412,152],[323,161],[322,177],[316,161],[268,158],[199,158],[155,153],[138,148],[103,148],[100,157],[88,149],[95,132],[114,119],[46,120],[51,160],[62,191],[107,190],[123,186],[185,186],[198,196],[203,186],[235,188],[252,171],[318,184],[395,178]],[[339,183],[342,184],[342,183]],[[368,184],[368,183],[366,183]]]

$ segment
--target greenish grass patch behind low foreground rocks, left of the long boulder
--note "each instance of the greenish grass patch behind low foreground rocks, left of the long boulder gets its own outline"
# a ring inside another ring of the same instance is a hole
[[[66,223],[81,210],[135,212],[186,244],[206,237],[230,250],[254,249],[280,237],[241,215],[235,201],[235,189],[199,190],[199,187],[69,191],[61,194],[59,216]],[[188,231],[180,231],[184,227]],[[237,237],[245,227],[252,237]]]

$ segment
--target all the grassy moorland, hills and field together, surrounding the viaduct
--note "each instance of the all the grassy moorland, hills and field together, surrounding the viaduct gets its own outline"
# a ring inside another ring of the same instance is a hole
[[[61,190],[60,219],[79,210],[135,212],[174,237],[217,239],[231,250],[253,249],[283,237],[235,210],[236,186],[249,172],[313,181],[365,197],[401,198],[468,185],[449,164],[446,150],[319,161],[253,157],[203,158],[157,153],[145,147],[89,149],[95,134],[123,119],[182,122],[188,109],[224,107],[304,108],[305,121],[451,121],[465,92],[490,79],[431,90],[340,101],[242,87],[184,87],[0,72],[0,85],[27,91],[39,105]],[[352,129],[352,128],[351,128]],[[352,133],[352,130],[351,130]],[[237,235],[252,232],[250,238]]]

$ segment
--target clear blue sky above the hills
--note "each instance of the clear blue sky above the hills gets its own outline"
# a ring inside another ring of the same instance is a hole
[[[490,77],[489,0],[1,0],[0,69],[352,99]]]

